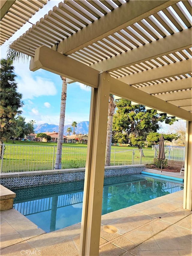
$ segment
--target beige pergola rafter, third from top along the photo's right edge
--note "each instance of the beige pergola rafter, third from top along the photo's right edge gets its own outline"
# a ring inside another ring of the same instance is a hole
[[[150,94],[162,93],[162,92],[173,92],[177,90],[191,89],[192,87],[192,78],[178,79],[174,81],[169,81],[166,83],[158,83],[153,85],[141,86],[138,87],[143,92]]]

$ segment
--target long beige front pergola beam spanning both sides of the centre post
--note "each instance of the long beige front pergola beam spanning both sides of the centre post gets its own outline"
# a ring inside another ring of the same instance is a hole
[[[55,52],[46,46],[36,49],[35,57],[30,61],[30,70],[35,71],[39,68],[65,76],[91,87],[98,88],[99,72],[97,70],[90,68],[70,57],[64,56],[61,53]],[[110,84],[110,93],[113,95],[127,98],[131,101],[174,116],[178,116],[185,120],[192,120],[192,113],[165,102],[166,99],[161,100],[160,98],[152,96],[146,92],[142,92],[141,90],[127,85],[126,83],[123,83],[113,77],[110,78]],[[187,90],[185,92],[190,93],[191,90]],[[182,93],[184,92],[182,91]],[[172,99],[167,98],[167,100]]]

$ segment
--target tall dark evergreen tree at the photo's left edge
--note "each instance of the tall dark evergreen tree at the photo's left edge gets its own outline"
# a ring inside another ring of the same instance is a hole
[[[15,82],[16,75],[13,72],[14,67],[7,62],[7,59],[1,59],[0,63],[0,144],[3,144],[3,140],[7,140],[10,135],[14,134],[16,127],[15,116],[21,113],[19,108],[22,107],[23,102],[21,100],[22,94],[16,91],[17,83]]]

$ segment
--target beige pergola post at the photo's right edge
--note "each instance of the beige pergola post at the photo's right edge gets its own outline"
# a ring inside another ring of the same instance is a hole
[[[183,208],[192,210],[192,122],[186,122]]]

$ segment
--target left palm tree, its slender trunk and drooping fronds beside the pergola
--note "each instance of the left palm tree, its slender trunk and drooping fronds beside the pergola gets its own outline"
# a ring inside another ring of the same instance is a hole
[[[30,56],[27,56],[24,53],[20,53],[16,50],[8,48],[7,50],[7,59],[10,64],[15,60],[22,59],[23,61],[28,60]],[[60,119],[59,119],[59,128],[58,128],[58,140],[57,140],[57,152],[55,157],[55,166],[54,169],[61,169],[61,153],[62,153],[62,143],[63,143],[63,132],[64,132],[64,119],[65,119],[65,106],[66,106],[66,97],[67,97],[67,83],[66,78],[61,77],[62,89],[61,89],[61,106],[60,106]]]

